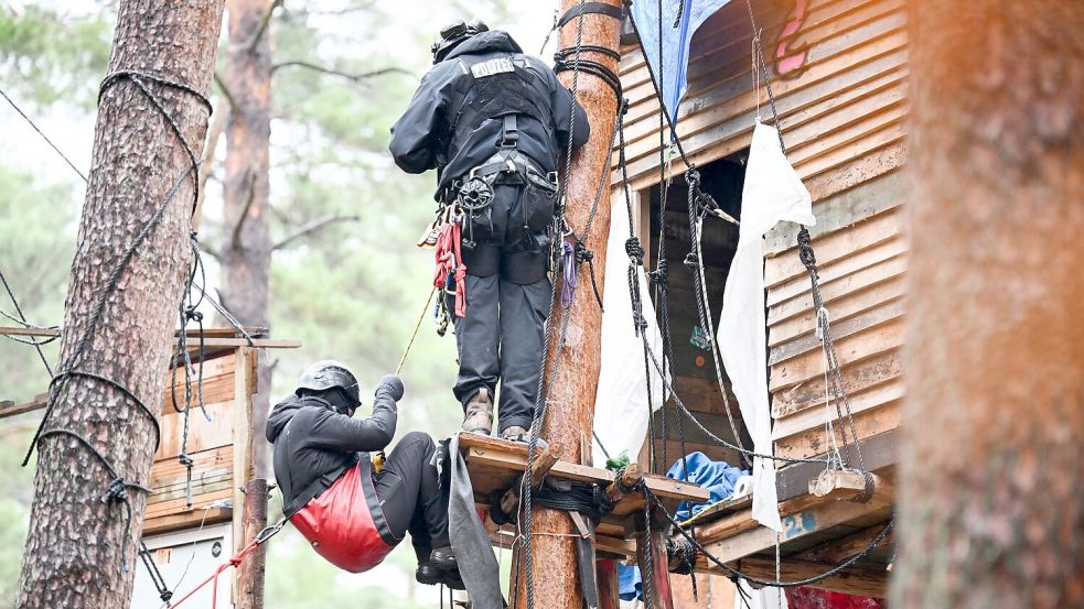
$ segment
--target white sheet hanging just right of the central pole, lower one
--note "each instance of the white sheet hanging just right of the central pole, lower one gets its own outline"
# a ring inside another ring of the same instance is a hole
[[[629,294],[629,210],[624,197],[613,197],[610,218],[610,239],[607,244],[605,293],[602,296],[602,368],[594,398],[594,433],[611,457],[627,452],[635,461],[647,436],[647,378],[644,370],[643,339],[636,336],[632,318],[632,297]],[[636,269],[643,316],[647,322],[647,344],[663,363],[663,338],[655,323],[655,307],[647,291],[643,267]],[[663,381],[651,366],[652,412],[662,407]],[[595,467],[605,466],[605,455],[592,439],[592,460]]]

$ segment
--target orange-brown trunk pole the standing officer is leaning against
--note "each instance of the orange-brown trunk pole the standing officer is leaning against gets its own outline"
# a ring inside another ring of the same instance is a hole
[[[621,7],[621,0],[605,0],[607,4]],[[580,4],[579,0],[562,0],[561,11]],[[560,32],[561,48],[575,48],[579,33],[578,19],[569,21]],[[597,45],[604,48],[619,50],[621,22],[612,17],[588,14],[583,17],[582,39],[584,45]],[[618,62],[604,54],[584,51],[581,58],[599,62],[614,73]],[[572,73],[560,75],[567,87],[572,86]],[[590,141],[572,156],[569,175],[564,176],[567,184],[567,207],[565,210],[569,226],[587,241],[594,252],[595,279],[599,291],[604,287],[605,278],[601,271],[605,269],[607,238],[610,233],[610,167],[607,156],[611,134],[614,128],[614,117],[618,111],[618,99],[613,89],[601,78],[579,73],[576,86],[576,97],[587,111],[591,124]],[[602,200],[599,204],[592,224],[591,232],[584,235],[594,194],[602,181]],[[586,272],[586,267],[581,268]],[[564,278],[558,275],[557,281]],[[547,416],[543,425],[541,437],[551,444],[564,447],[561,459],[580,463],[581,446],[590,446],[592,423],[594,421],[594,391],[599,380],[599,354],[601,349],[602,311],[599,308],[589,282],[581,281],[576,291],[576,298],[568,313],[567,341],[558,350],[558,340],[565,311],[557,312],[549,320],[554,328],[549,337],[549,359],[546,362],[546,382],[552,381],[552,391],[546,396],[548,402]],[[552,376],[557,374],[554,379]],[[584,438],[588,441],[584,443]],[[567,512],[536,508],[533,515],[532,562],[534,567],[535,607],[556,608],[567,607],[580,609],[582,597],[579,577],[577,575],[576,552],[572,546],[572,522]],[[523,564],[523,561],[519,562]],[[519,607],[523,602],[523,586],[520,583]]]

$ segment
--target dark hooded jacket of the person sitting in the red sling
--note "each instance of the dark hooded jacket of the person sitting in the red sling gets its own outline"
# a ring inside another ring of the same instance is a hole
[[[282,503],[300,509],[311,497],[300,498],[321,477],[348,467],[358,453],[382,450],[395,435],[397,410],[387,390],[378,390],[373,416],[351,418],[339,414],[329,402],[307,395],[291,395],[279,402],[267,417],[265,435],[275,444],[275,479],[282,491]],[[363,455],[362,458],[368,458]],[[302,501],[298,501],[303,499]]]

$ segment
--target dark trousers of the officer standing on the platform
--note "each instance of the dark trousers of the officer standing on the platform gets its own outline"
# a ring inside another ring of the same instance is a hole
[[[466,316],[454,317],[459,351],[454,393],[465,407],[482,388],[493,395],[500,381],[498,431],[530,427],[541,373],[552,287],[545,272],[548,251],[538,236],[525,230],[523,220],[533,195],[538,196],[529,189],[525,194],[523,186],[498,184],[485,218],[463,230],[464,238],[473,236],[477,241],[474,251],[463,254]],[[481,260],[486,248],[486,259]],[[525,276],[540,279],[525,283]],[[450,311],[453,301],[449,300]]]

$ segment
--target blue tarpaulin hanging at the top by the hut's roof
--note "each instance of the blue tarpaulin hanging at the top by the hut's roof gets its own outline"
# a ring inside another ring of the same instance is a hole
[[[635,0],[632,19],[640,32],[640,44],[656,79],[662,79],[663,104],[677,124],[678,104],[688,89],[689,45],[693,34],[711,13],[730,0],[662,0],[663,65],[658,65],[659,1]],[[676,26],[675,26],[676,25]]]

